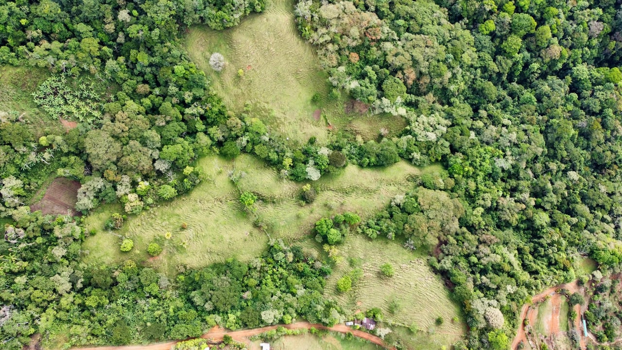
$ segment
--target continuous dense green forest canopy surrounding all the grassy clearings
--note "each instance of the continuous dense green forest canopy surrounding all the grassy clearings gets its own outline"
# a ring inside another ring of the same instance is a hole
[[[440,176],[422,176],[356,230],[430,253],[470,326],[458,349],[507,348],[522,303],[575,280],[581,257],[620,270],[618,2],[302,0],[300,34],[330,83],[407,120],[397,137],[335,133],[326,145],[292,145],[252,110],[227,111],[180,46],[188,26],[225,29],[265,6],[0,0],[0,63],[55,73],[32,98],[80,122],[57,135],[16,111],[0,118],[3,348],[35,332],[65,334],[70,345],[126,344],[198,336],[213,324],[343,318],[322,296],[330,267],[279,242],[253,262],[175,280],[131,260],[85,266],[80,242],[90,233],[80,219],[25,205],[50,172],[83,183],[81,212],[119,201],[129,215],[190,191],[202,181],[193,161],[208,153],[256,154],[297,181],[348,161],[440,162]],[[341,241],[333,227],[316,233]]]

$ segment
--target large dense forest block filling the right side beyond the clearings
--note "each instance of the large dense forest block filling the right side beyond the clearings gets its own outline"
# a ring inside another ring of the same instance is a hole
[[[574,280],[578,257],[620,267],[618,8],[615,1],[297,5],[300,31],[318,47],[333,85],[410,121],[386,142],[415,164],[446,165],[444,177],[423,184],[449,192],[460,203],[454,210],[430,207],[420,190],[362,230],[439,248],[432,265],[463,302],[469,348],[507,346],[486,310],[512,319],[532,291]],[[459,227],[443,224],[454,215]],[[513,325],[504,329],[511,334]]]

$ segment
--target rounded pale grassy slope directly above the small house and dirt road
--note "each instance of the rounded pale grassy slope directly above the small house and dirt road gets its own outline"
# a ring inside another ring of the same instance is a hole
[[[450,300],[442,280],[422,256],[409,252],[398,242],[372,241],[356,234],[348,236],[339,250],[343,259],[338,259],[341,261],[329,277],[325,293],[335,296],[345,310],[364,312],[377,306],[388,324],[410,327],[414,323],[419,331],[413,334],[404,328],[399,335],[416,349],[449,346],[465,333],[460,308]],[[380,272],[384,263],[394,268],[393,277]],[[338,293],[337,280],[353,268],[361,268],[363,278],[353,283],[351,291]],[[437,326],[435,320],[439,316],[443,324]]]

